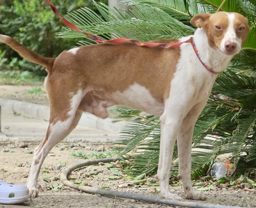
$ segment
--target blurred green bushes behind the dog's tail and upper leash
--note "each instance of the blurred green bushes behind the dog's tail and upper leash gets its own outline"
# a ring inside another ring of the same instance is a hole
[[[63,14],[80,6],[93,7],[92,0],[61,0],[52,3],[56,4],[59,12]],[[1,3],[0,33],[12,36],[42,56],[56,57],[76,43],[76,40],[56,38],[55,33],[59,32],[62,26],[62,22],[55,17],[45,1],[5,0]],[[36,75],[46,75],[44,67],[22,60],[6,45],[0,45],[0,56],[1,70],[28,70]]]

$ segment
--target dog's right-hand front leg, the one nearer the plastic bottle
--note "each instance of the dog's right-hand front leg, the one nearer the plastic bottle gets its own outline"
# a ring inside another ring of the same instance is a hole
[[[193,130],[198,115],[205,106],[205,102],[200,102],[194,106],[186,115],[180,126],[179,135],[177,138],[179,150],[179,176],[182,181],[185,198],[193,200],[205,200],[200,191],[195,191],[191,184],[191,145],[193,138]]]

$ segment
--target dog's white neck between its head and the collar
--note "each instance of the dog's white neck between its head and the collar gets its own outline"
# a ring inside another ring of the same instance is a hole
[[[224,54],[218,48],[210,47],[203,28],[196,29],[194,41],[201,60],[214,72],[222,72],[228,67],[233,56]]]

